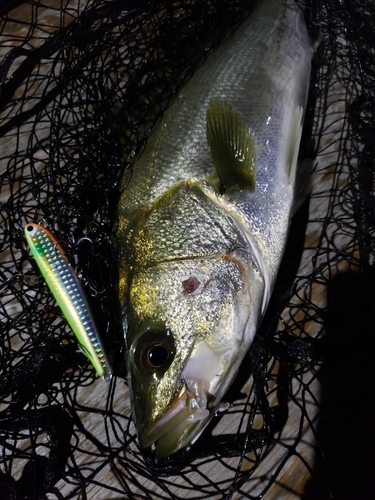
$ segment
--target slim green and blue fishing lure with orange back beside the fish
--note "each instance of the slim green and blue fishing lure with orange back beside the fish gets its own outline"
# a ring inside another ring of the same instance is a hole
[[[96,373],[109,380],[111,369],[100,342],[94,318],[87,304],[82,285],[70,266],[63,247],[44,226],[29,223],[25,237],[36,263],[82,351]]]

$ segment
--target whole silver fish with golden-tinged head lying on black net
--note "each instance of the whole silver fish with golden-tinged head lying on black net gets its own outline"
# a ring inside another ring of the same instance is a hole
[[[258,3],[178,93],[120,195],[131,405],[157,459],[199,438],[264,316],[301,181],[312,55],[292,0]]]

